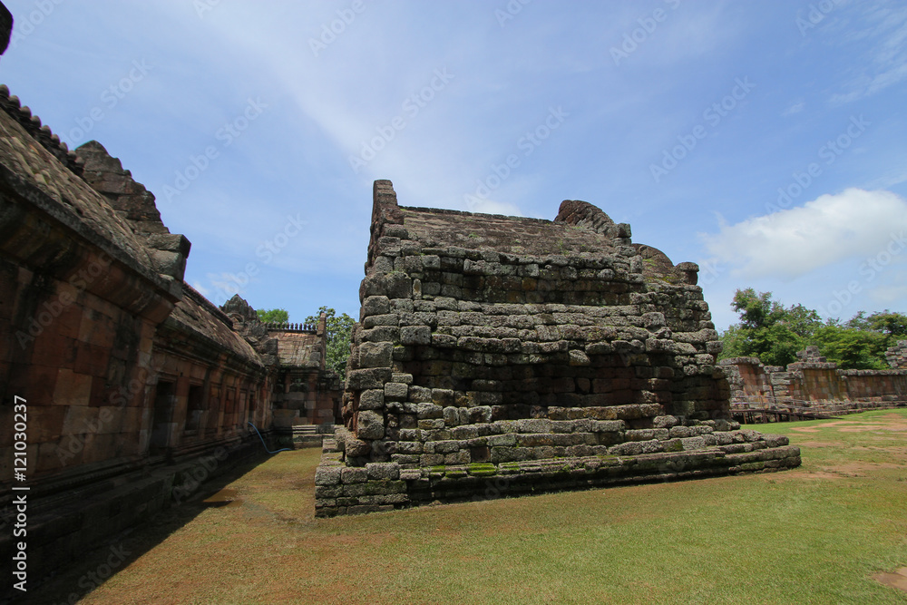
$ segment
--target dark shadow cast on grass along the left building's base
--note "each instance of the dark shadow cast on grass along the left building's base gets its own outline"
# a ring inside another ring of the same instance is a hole
[[[267,462],[270,454],[263,451],[251,454],[249,458],[225,469],[222,473],[201,483],[188,498],[149,519],[126,529],[105,540],[101,545],[85,551],[80,559],[71,561],[65,568],[44,578],[41,584],[23,596],[14,595],[0,600],[7,603],[72,604],[82,600],[88,593],[110,580],[143,554],[167,540],[174,532],[192,522],[210,508],[238,504],[227,485],[251,472],[259,464]],[[33,582],[30,581],[30,584]]]

